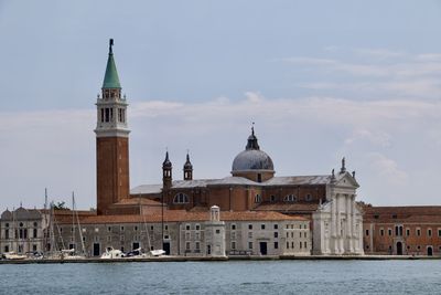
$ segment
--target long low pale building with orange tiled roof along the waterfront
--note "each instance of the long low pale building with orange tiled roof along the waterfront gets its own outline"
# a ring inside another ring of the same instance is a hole
[[[310,255],[310,221],[278,212],[165,210],[163,214],[94,215],[80,221],[80,235],[72,222],[60,223],[62,239],[100,256],[107,247],[131,251],[163,249],[181,256]],[[163,236],[163,239],[162,239]],[[74,242],[76,241],[76,243]]]

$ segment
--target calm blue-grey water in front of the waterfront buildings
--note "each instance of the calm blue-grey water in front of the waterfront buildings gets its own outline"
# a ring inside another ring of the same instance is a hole
[[[441,294],[441,261],[0,265],[0,294]]]

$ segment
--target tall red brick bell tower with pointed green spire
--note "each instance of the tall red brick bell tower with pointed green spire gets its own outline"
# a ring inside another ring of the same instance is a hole
[[[96,157],[97,213],[129,197],[129,133],[126,95],[121,97],[114,40],[109,41],[109,56],[104,76],[101,96],[97,97]]]

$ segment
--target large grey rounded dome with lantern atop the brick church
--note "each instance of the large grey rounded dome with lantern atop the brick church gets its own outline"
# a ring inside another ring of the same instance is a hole
[[[248,137],[245,150],[239,152],[234,159],[232,172],[250,170],[275,170],[271,158],[267,152],[260,150],[254,128],[251,129],[251,135]]]

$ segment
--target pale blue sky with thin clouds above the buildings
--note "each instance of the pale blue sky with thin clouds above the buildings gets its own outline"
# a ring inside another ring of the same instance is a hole
[[[130,186],[230,175],[255,122],[277,176],[342,157],[373,206],[441,206],[440,1],[2,1],[0,210],[96,207],[115,39]]]

